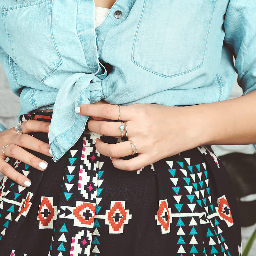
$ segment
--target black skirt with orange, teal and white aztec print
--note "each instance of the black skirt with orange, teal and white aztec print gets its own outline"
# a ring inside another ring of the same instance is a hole
[[[50,122],[51,112],[23,115]],[[48,143],[48,134],[33,136]],[[0,185],[1,256],[240,256],[241,229],[228,172],[205,145],[136,171],[96,151],[125,137],[88,130],[39,171],[7,159],[32,184]],[[136,156],[136,155],[134,155]],[[134,156],[124,157],[130,159]]]

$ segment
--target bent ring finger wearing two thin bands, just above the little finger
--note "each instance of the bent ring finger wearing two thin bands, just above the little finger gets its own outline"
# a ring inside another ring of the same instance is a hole
[[[129,141],[108,144],[100,139],[96,139],[95,147],[97,151],[104,156],[123,157],[132,155],[132,147]]]

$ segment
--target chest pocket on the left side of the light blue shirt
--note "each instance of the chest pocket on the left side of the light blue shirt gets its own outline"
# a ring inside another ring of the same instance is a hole
[[[52,35],[52,0],[3,7],[2,18],[12,47],[12,59],[43,82],[60,64]]]

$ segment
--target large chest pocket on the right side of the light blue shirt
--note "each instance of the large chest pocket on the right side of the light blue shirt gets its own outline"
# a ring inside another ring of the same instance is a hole
[[[167,78],[200,68],[217,0],[144,0],[132,61]]]

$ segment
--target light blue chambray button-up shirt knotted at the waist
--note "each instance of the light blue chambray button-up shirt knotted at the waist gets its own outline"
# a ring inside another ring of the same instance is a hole
[[[55,162],[84,131],[77,105],[226,100],[235,70],[244,94],[256,89],[255,0],[117,0],[96,30],[93,0],[1,0],[0,8],[0,61],[20,115],[54,104]]]

